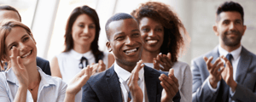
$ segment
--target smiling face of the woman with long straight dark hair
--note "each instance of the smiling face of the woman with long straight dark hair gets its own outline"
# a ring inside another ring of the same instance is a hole
[[[80,14],[73,23],[72,37],[74,45],[87,45],[93,42],[96,34],[96,25],[87,14]]]

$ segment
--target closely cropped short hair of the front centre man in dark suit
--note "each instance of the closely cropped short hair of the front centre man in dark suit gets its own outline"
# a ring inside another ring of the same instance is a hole
[[[112,17],[110,17],[105,25],[105,31],[108,37],[108,41],[109,41],[109,35],[108,35],[108,25],[113,22],[113,21],[117,21],[117,20],[125,20],[125,19],[134,19],[136,20],[133,16],[131,16],[131,14],[126,14],[126,13],[118,13],[118,14],[114,14]]]

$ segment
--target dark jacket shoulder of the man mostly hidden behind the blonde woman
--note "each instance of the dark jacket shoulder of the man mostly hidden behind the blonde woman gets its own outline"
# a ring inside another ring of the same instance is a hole
[[[51,75],[50,74],[50,69],[49,69],[49,61],[40,57],[37,57],[37,65],[44,71],[45,74]]]

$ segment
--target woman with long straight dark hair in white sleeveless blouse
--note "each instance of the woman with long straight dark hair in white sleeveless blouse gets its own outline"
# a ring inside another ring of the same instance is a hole
[[[113,54],[98,49],[100,23],[96,10],[89,6],[73,9],[67,20],[65,32],[65,50],[52,59],[52,76],[61,77],[69,83],[85,66],[98,63],[97,71],[104,71],[113,64]],[[76,95],[81,101],[82,93]]]

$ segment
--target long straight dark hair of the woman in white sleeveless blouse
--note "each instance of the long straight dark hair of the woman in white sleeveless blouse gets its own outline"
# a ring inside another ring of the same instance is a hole
[[[90,49],[92,50],[92,53],[95,57],[96,63],[98,62],[99,59],[102,59],[104,57],[102,51],[99,50],[98,46],[98,39],[101,31],[100,27],[100,21],[98,14],[96,13],[96,10],[93,8],[90,8],[89,6],[82,6],[82,7],[77,7],[73,9],[73,12],[70,14],[68,20],[67,20],[67,25],[66,25],[66,32],[65,32],[65,50],[63,52],[68,52],[71,49],[73,49],[73,37],[72,37],[72,27],[73,23],[77,18],[79,17],[80,14],[87,14],[90,16],[90,18],[93,20],[93,22],[96,25],[96,34],[93,42],[90,44]]]

